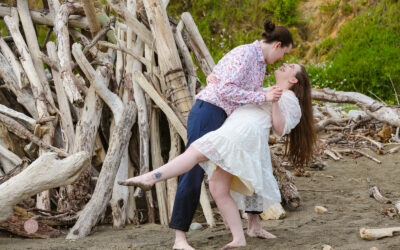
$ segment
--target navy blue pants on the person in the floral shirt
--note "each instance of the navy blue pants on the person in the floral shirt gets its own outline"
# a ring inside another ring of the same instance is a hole
[[[188,118],[186,149],[198,138],[221,127],[226,117],[222,108],[202,100],[196,100]],[[199,204],[203,178],[204,170],[199,165],[180,176],[169,223],[170,228],[184,232],[189,230],[194,212]]]

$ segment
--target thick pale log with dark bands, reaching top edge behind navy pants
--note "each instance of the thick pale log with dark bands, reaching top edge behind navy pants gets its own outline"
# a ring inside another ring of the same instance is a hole
[[[171,92],[173,105],[187,120],[192,107],[192,98],[188,90],[167,13],[160,0],[144,1],[144,7],[153,36],[157,38],[156,48],[161,75],[165,78],[165,83]]]

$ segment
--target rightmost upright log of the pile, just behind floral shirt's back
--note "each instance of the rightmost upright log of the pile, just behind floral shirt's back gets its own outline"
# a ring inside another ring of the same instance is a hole
[[[191,41],[190,45],[192,45],[191,50],[194,53],[197,64],[203,73],[208,76],[215,67],[214,59],[208,51],[199,29],[192,18],[192,15],[190,15],[189,12],[184,12],[181,15],[181,19],[185,24],[186,30],[189,34],[189,39]]]

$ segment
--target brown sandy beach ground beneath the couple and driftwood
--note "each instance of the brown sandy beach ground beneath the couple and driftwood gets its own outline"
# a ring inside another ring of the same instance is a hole
[[[400,200],[400,153],[376,156],[377,164],[364,157],[346,157],[338,162],[328,160],[322,171],[310,171],[311,177],[296,177],[302,190],[331,190],[330,192],[301,191],[302,206],[287,211],[279,221],[263,221],[263,227],[278,236],[263,240],[247,238],[241,249],[322,249],[324,244],[335,249],[400,249],[400,235],[375,241],[359,236],[361,227],[382,228],[400,226],[400,219],[389,219],[381,214],[384,207],[369,196],[370,187],[377,185],[389,199]],[[324,214],[314,212],[314,206],[328,209]],[[244,225],[246,221],[243,220]],[[121,230],[98,226],[95,232],[80,240],[24,239],[0,233],[0,249],[171,249],[174,232],[166,226],[127,226]],[[204,228],[188,233],[190,244],[196,249],[218,249],[231,240],[224,226]]]

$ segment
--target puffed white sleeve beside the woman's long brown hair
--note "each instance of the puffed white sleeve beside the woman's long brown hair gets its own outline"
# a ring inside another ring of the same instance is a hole
[[[282,135],[278,135],[274,130],[272,132],[279,139],[282,136],[289,134],[290,131],[297,126],[301,118],[301,108],[297,97],[291,93],[283,93],[278,101],[279,108],[285,117],[285,127]]]

